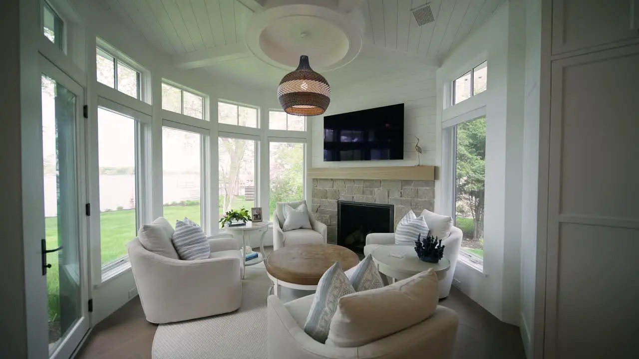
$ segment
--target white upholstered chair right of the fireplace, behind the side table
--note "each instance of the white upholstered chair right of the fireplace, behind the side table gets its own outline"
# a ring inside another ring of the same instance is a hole
[[[462,232],[458,227],[452,226],[450,234],[442,239],[443,255],[450,261],[450,268],[446,271],[445,277],[439,281],[439,297],[446,298],[450,293],[452,285],[452,276],[457,266],[457,257],[459,256],[459,248],[461,248]],[[373,250],[380,245],[395,244],[395,233],[371,233],[366,236],[366,246],[364,247],[364,256],[368,256]]]

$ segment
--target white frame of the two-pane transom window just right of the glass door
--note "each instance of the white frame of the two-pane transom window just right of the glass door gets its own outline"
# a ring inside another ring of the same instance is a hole
[[[138,100],[141,102],[146,102],[146,103],[150,103],[150,91],[148,90],[148,80],[147,77],[148,76],[148,71],[146,69],[144,69],[142,66],[140,66],[138,63],[136,63],[133,59],[131,59],[130,57],[128,57],[126,54],[124,54],[123,52],[119,51],[118,49],[116,49],[115,47],[112,47],[111,45],[109,45],[109,43],[105,42],[104,40],[102,40],[101,38],[96,38],[95,40],[95,61],[97,61],[97,57],[98,56],[102,56],[100,54],[100,52],[104,52],[104,54],[106,54],[109,57],[113,58],[113,87],[103,84],[102,82],[98,81],[98,73],[97,73],[97,69],[95,72],[95,76],[94,79],[95,81],[102,85],[105,86],[106,88],[111,88],[114,89],[115,91],[118,91],[118,93],[121,93],[123,95],[126,95],[130,98],[133,98],[134,100]],[[105,56],[102,56],[105,57]],[[137,97],[128,95],[128,93],[124,93],[123,91],[120,91],[118,89],[118,65],[121,63],[121,65],[126,66],[128,68],[130,68],[131,70],[135,71],[135,79],[137,82],[137,86],[136,86],[136,93],[137,93]]]

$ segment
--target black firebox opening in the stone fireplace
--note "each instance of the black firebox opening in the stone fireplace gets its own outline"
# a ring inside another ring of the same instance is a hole
[[[364,253],[370,233],[392,233],[392,204],[337,201],[337,244]]]

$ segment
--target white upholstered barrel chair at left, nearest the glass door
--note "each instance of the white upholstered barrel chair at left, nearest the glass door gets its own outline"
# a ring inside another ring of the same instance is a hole
[[[171,323],[233,312],[242,304],[242,254],[236,240],[210,238],[208,259],[182,261],[146,250],[136,237],[128,256],[146,320]]]

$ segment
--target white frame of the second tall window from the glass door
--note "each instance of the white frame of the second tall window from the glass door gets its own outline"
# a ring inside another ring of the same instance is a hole
[[[168,110],[165,110],[168,111]],[[186,115],[185,115],[186,116]],[[200,223],[199,225],[204,230],[204,233],[213,234],[213,220],[208,216],[209,212],[209,193],[210,193],[210,130],[200,128],[197,126],[186,125],[170,119],[162,119],[162,129],[171,128],[172,130],[178,130],[183,132],[190,132],[191,134],[197,134],[200,137]],[[160,131],[161,135],[162,131]],[[162,149],[162,158],[164,160],[164,149]],[[162,163],[162,216],[164,216],[164,162]],[[217,223],[217,222],[215,222]]]

